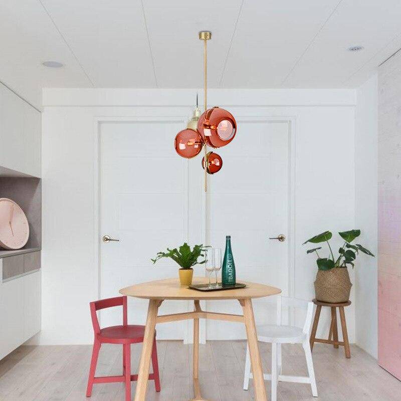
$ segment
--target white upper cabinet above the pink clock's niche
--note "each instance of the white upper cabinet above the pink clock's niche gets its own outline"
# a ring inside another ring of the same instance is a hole
[[[41,113],[0,84],[0,166],[41,176]]]

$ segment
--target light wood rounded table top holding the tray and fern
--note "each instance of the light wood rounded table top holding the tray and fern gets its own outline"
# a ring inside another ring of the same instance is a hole
[[[206,277],[193,277],[192,284],[207,283]],[[208,299],[250,299],[262,298],[270,295],[277,295],[281,290],[265,284],[250,283],[239,280],[239,283],[245,283],[246,288],[235,290],[220,290],[202,292],[192,290],[179,283],[178,278],[149,281],[147,283],[135,284],[130,287],[122,288],[120,294],[136,298],[146,299],[182,299],[182,300],[208,300]]]

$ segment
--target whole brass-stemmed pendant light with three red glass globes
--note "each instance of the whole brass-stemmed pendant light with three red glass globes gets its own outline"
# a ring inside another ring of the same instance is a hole
[[[237,133],[237,122],[234,116],[220,107],[208,109],[207,78],[208,53],[207,42],[212,39],[209,31],[199,32],[199,39],[204,41],[204,113],[200,115],[196,95],[196,108],[192,118],[188,121],[186,129],[179,131],[175,136],[174,146],[176,152],[185,158],[195,157],[204,148],[202,166],[205,170],[205,191],[207,191],[207,176],[220,171],[223,159],[216,152],[208,152],[208,146],[219,148],[229,144]]]

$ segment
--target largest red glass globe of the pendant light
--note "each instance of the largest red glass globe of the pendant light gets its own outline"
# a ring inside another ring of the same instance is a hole
[[[218,148],[234,139],[237,123],[230,112],[213,107],[199,117],[197,130],[209,146]]]

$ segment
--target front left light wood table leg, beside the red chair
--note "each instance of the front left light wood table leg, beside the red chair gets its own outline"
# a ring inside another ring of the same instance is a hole
[[[147,309],[146,327],[143,335],[142,353],[138,368],[138,381],[136,383],[136,391],[134,401],[145,401],[146,387],[149,377],[150,357],[152,354],[154,327],[156,325],[157,310],[160,301],[150,299]]]

